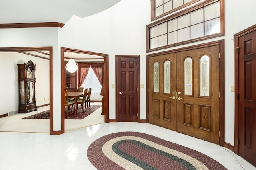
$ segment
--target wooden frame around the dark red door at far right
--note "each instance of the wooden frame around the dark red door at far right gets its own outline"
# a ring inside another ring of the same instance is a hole
[[[252,32],[252,31],[255,31],[256,30],[256,24],[255,25],[252,25],[251,27],[248,27],[247,29],[244,29],[243,31],[240,31],[239,33],[236,33],[234,35],[234,40],[235,40],[235,47],[238,47],[239,46],[239,38]],[[239,87],[238,86],[238,82],[239,82],[239,79],[238,79],[238,73],[239,73],[239,61],[238,61],[238,53],[237,53],[237,50],[234,48],[234,51],[235,51],[235,87]],[[238,140],[238,136],[239,136],[239,107],[238,107],[238,104],[239,104],[239,100],[237,98],[237,94],[239,93],[238,91],[238,88],[235,88],[235,137],[234,137],[234,153],[235,154],[239,154],[239,149],[238,149],[238,143],[237,143],[237,140]]]

